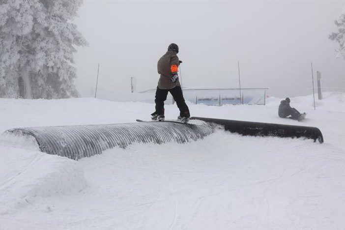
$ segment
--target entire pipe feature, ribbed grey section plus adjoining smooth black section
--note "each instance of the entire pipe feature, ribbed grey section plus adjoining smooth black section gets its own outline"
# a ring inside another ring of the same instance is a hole
[[[194,121],[193,121],[194,120]],[[46,126],[15,128],[5,131],[32,136],[42,152],[74,160],[100,154],[115,146],[125,148],[133,143],[186,143],[202,139],[221,125],[225,130],[251,136],[313,139],[323,143],[316,127],[271,124],[250,121],[191,117],[189,123],[176,121],[138,122],[101,125]]]

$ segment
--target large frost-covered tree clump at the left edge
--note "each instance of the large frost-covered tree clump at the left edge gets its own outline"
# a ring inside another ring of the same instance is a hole
[[[77,96],[71,21],[83,0],[0,0],[0,97]]]

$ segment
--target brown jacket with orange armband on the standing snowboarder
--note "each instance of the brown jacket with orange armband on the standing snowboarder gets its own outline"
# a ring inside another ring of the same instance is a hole
[[[177,79],[177,81],[174,83],[171,81],[171,77],[173,77],[174,74],[177,74],[178,65],[178,57],[173,51],[168,51],[162,56],[162,58],[158,60],[157,70],[161,75],[158,81],[158,88],[172,89],[175,86],[181,86],[179,79]]]

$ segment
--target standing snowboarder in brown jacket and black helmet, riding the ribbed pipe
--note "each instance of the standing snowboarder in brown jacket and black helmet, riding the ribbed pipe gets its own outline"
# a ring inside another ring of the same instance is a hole
[[[160,78],[154,100],[156,111],[151,114],[152,120],[164,120],[164,101],[167,99],[168,92],[173,95],[173,99],[180,110],[180,115],[177,119],[184,122],[189,120],[189,109],[184,101],[177,74],[178,66],[182,61],[178,60],[176,54],[178,54],[178,46],[172,43],[169,45],[167,53],[158,60],[157,70]]]

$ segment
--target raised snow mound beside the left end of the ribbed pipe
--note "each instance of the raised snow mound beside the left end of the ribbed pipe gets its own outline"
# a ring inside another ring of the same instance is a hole
[[[69,195],[86,188],[76,161],[21,148],[0,147],[0,214],[13,213],[36,197]]]

